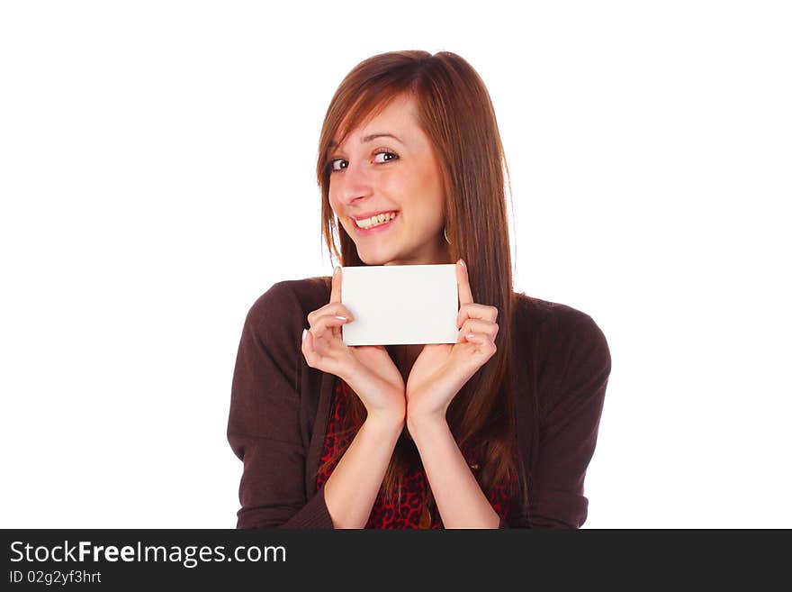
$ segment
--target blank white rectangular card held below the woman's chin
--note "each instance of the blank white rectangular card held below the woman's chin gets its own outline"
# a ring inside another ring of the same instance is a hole
[[[456,266],[372,265],[341,269],[341,302],[355,315],[347,345],[455,343]]]

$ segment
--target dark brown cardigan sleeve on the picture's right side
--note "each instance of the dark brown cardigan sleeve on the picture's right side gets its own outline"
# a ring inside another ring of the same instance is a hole
[[[594,454],[611,369],[608,342],[588,314],[574,309],[551,323],[550,358],[540,381],[538,454],[527,528],[580,528],[588,515],[583,495]],[[562,311],[563,312],[563,311]]]

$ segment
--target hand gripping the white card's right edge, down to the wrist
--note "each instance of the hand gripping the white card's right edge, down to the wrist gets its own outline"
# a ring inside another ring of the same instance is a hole
[[[459,313],[462,327],[456,343],[428,343],[410,370],[405,396],[407,420],[446,421],[448,405],[459,390],[497,351],[498,308],[473,302],[467,269],[456,263]]]

